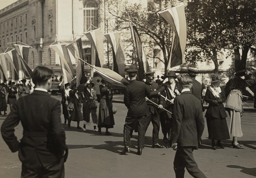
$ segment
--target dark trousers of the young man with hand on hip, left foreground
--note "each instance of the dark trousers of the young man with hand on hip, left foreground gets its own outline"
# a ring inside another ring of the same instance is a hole
[[[58,161],[46,166],[42,167],[41,163],[37,166],[33,166],[33,168],[28,167],[26,164],[22,163],[22,171],[21,178],[64,178],[65,170],[64,170],[64,157],[59,159]]]

